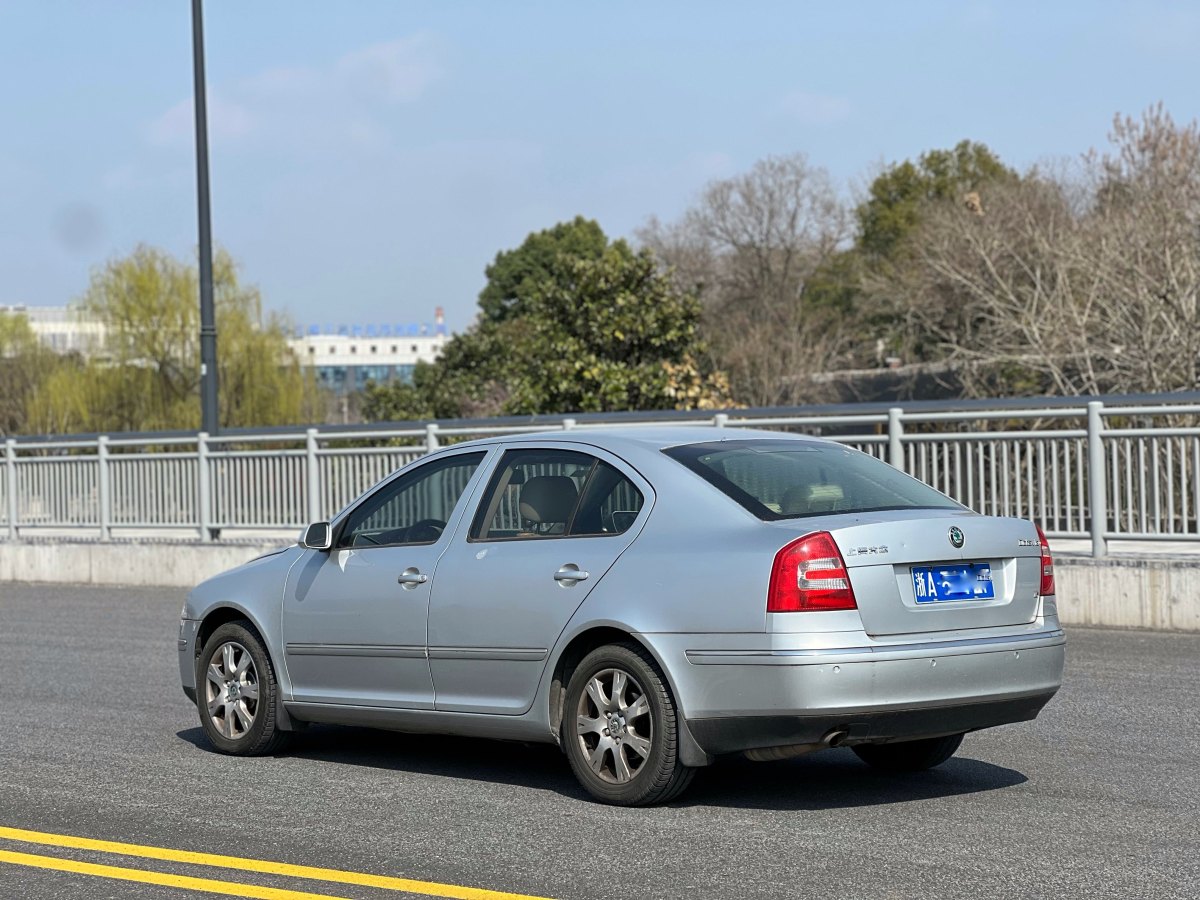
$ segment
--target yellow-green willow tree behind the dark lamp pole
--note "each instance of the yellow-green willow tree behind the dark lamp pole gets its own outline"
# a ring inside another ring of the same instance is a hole
[[[102,353],[35,394],[31,419],[54,431],[154,431],[199,426],[199,307],[193,266],[138,247],[92,274],[78,302],[104,325]],[[316,389],[232,258],[214,260],[220,421],[226,427],[304,421]]]

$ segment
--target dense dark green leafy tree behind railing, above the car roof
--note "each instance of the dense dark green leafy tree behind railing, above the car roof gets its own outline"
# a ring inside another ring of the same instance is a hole
[[[491,266],[493,275],[540,272],[520,281],[520,302],[499,319],[481,314],[437,362],[418,366],[410,385],[368,388],[364,415],[379,421],[727,404],[724,377],[700,362],[698,300],[677,289],[648,251],[610,244],[602,232],[599,254],[587,245],[551,259],[535,240],[575,226],[590,230],[594,223],[575,220],[499,254],[505,266]],[[485,288],[480,305],[504,293],[508,287],[497,294]]]

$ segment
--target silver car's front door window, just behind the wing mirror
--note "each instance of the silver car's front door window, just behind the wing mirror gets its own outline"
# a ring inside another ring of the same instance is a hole
[[[485,456],[458,454],[436,460],[376,491],[349,514],[337,546],[433,544]]]

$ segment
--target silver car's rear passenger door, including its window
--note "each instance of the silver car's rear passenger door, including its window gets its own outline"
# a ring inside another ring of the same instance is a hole
[[[433,586],[437,709],[529,709],[551,648],[641,530],[652,497],[640,475],[599,450],[508,450]]]

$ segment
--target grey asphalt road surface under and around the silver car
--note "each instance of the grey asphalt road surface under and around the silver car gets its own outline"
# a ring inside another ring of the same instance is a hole
[[[220,756],[179,689],[173,589],[0,583],[0,834],[31,829],[550,898],[1200,896],[1200,635],[1073,629],[1031,724],[942,768],[845,750],[590,803],[553,748],[320,728]],[[370,887],[0,839],[0,898],[196,898],[4,853],[344,898]]]

